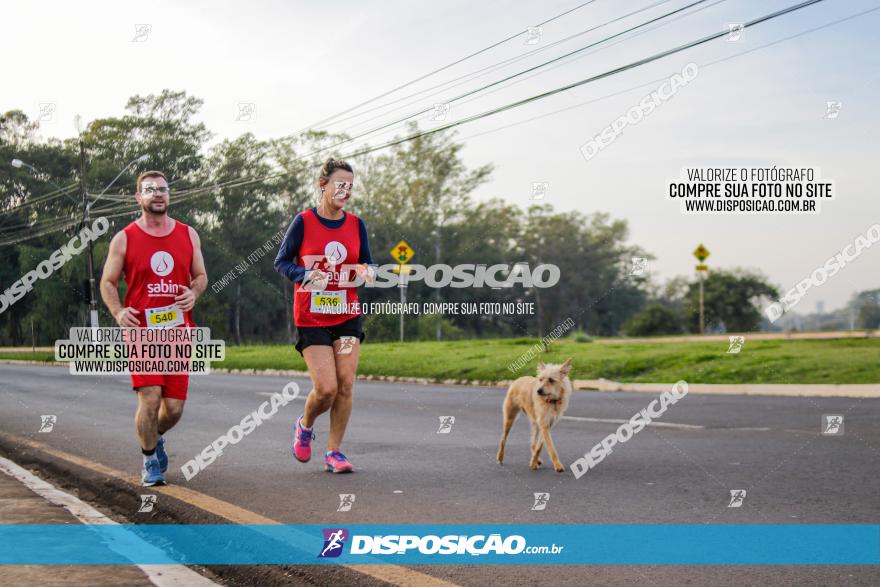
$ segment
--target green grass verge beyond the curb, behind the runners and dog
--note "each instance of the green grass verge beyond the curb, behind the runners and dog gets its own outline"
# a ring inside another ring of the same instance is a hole
[[[498,381],[531,375],[538,359],[562,362],[572,357],[574,379],[612,379],[631,383],[878,383],[880,339],[749,341],[738,354],[727,343],[578,343],[555,342],[546,353],[515,373],[507,366],[527,353],[537,339],[488,339],[450,342],[365,344],[358,373],[432,379]],[[0,353],[0,359],[49,361],[48,352]],[[292,345],[227,346],[227,369],[299,369],[305,362]]]

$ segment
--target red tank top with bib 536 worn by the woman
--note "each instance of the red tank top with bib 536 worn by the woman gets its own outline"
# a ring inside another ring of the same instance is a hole
[[[358,217],[346,212],[345,222],[339,228],[321,224],[311,209],[302,213],[302,219],[303,241],[296,263],[329,273],[330,281],[322,291],[294,284],[293,323],[304,327],[334,326],[359,316],[357,288],[350,286],[361,251]]]

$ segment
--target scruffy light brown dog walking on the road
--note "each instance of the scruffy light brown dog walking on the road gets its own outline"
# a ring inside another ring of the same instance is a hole
[[[532,427],[532,460],[529,466],[532,469],[541,466],[541,449],[546,443],[553,468],[557,473],[565,471],[565,467],[559,461],[559,455],[556,454],[553,439],[550,438],[550,429],[568,408],[572,390],[571,380],[568,378],[569,371],[571,371],[570,358],[561,365],[545,365],[544,361],[539,361],[537,377],[520,377],[510,384],[507,397],[504,398],[504,429],[501,433],[501,445],[498,447],[499,465],[504,463],[507,434],[522,410],[529,417],[529,424]]]

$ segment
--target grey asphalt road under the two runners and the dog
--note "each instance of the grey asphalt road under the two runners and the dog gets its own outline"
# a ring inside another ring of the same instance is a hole
[[[187,482],[180,465],[281,391],[288,379],[194,377],[182,422],[167,435],[170,483],[281,523],[877,523],[880,400],[689,394],[598,467],[575,479],[528,468],[528,425],[511,432],[495,462],[504,390],[358,382],[343,451],[353,475],[320,459],[295,462],[292,423],[301,396]],[[553,429],[569,465],[653,399],[577,392]],[[138,472],[135,398],[127,377],[71,376],[57,367],[0,365],[0,429],[110,467]],[[51,433],[39,433],[53,414]],[[822,414],[843,414],[844,434],[820,434]],[[449,433],[440,418],[453,416]],[[678,426],[681,425],[681,426]],[[317,447],[328,418],[317,424]],[[745,489],[742,507],[730,491]],[[533,511],[533,494],[550,494]],[[338,512],[339,494],[355,494]],[[455,583],[848,584],[880,583],[876,567],[419,567]]]

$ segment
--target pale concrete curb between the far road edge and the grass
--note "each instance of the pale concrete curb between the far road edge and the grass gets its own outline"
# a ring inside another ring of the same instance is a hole
[[[14,359],[0,359],[0,365],[67,366],[66,363],[60,362],[18,361]],[[211,373],[309,378],[307,371],[297,371],[294,369],[211,369]],[[505,388],[512,383],[511,380],[435,379],[431,377],[402,377],[397,375],[358,375],[357,381],[500,388]],[[667,391],[674,385],[674,383],[620,383],[609,379],[575,379],[572,381],[572,384],[576,390],[580,391],[625,391],[632,393],[658,393]],[[688,392],[710,395],[880,398],[880,383],[689,383]]]

